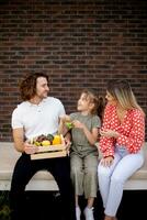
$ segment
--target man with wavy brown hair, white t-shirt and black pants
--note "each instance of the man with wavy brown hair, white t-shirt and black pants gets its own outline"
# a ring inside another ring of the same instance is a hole
[[[31,154],[35,153],[37,147],[30,144],[29,140],[41,134],[56,134],[59,117],[65,113],[63,103],[56,98],[48,97],[48,91],[47,75],[41,73],[26,76],[20,85],[23,102],[12,113],[14,146],[16,151],[22,153],[14,167],[10,190],[12,219],[14,220],[25,219],[25,187],[33,175],[41,169],[50,172],[57,182],[64,220],[76,219],[69,158],[58,157],[31,161]]]

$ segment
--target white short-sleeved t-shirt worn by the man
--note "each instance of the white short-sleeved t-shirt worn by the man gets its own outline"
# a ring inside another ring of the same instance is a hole
[[[41,134],[55,134],[63,114],[65,108],[60,100],[54,97],[43,99],[39,105],[23,101],[12,113],[12,129],[23,128],[26,140]]]

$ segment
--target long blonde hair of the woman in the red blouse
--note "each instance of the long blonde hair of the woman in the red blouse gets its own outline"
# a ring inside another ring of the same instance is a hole
[[[110,80],[106,90],[124,109],[138,109],[145,114],[127,80]]]

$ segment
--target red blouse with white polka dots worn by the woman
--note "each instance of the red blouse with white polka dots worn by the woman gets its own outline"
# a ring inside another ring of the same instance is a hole
[[[116,107],[108,105],[102,129],[111,129],[120,133],[117,139],[101,136],[100,150],[104,157],[114,155],[115,144],[126,146],[129,153],[137,153],[145,141],[145,117],[138,109],[128,110],[121,123]]]

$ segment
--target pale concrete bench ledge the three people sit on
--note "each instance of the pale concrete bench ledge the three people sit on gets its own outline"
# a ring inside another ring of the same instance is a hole
[[[124,189],[147,189],[147,143],[144,147],[145,164],[125,184]],[[10,190],[12,172],[21,154],[15,151],[13,143],[0,142],[0,190]],[[58,186],[46,170],[37,172],[26,186],[26,190],[58,190]]]

